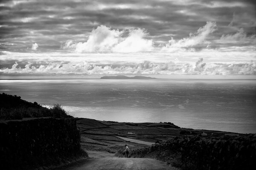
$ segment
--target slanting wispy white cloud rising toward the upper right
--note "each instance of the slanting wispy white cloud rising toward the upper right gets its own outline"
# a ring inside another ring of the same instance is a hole
[[[216,22],[207,22],[205,26],[199,28],[196,33],[190,33],[189,37],[181,40],[174,40],[173,37],[163,47],[165,51],[175,51],[180,49],[193,49],[198,46],[207,47],[210,43],[207,41],[208,36],[218,29]]]

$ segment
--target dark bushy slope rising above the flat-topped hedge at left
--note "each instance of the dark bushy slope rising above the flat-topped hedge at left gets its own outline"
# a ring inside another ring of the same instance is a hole
[[[53,104],[48,109],[40,106],[37,102],[24,101],[20,96],[0,94],[0,120],[15,120],[23,118],[70,118],[59,104]]]

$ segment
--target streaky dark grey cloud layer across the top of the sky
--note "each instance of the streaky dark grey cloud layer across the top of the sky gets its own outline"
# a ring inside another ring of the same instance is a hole
[[[4,0],[0,3],[0,49],[27,52],[32,43],[38,43],[41,52],[60,50],[66,40],[86,42],[100,25],[119,30],[145,28],[154,46],[168,43],[171,37],[188,37],[207,21],[218,26],[209,40],[236,34],[241,28],[251,37],[256,33],[255,9],[253,0]],[[219,41],[211,44],[212,48],[221,46],[224,43]]]

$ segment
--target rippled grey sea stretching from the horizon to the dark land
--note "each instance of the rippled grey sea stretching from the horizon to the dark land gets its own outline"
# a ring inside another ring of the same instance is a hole
[[[256,80],[0,80],[0,92],[81,118],[256,133]]]

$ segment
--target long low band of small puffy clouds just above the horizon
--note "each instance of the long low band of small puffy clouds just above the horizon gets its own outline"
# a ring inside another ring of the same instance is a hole
[[[199,58],[195,63],[166,62],[153,63],[144,61],[130,65],[96,65],[93,63],[59,63],[51,62],[36,66],[27,63],[24,68],[15,62],[12,68],[0,69],[0,75],[52,75],[52,74],[83,74],[83,75],[256,75],[256,63],[250,62],[211,62],[204,63]]]

